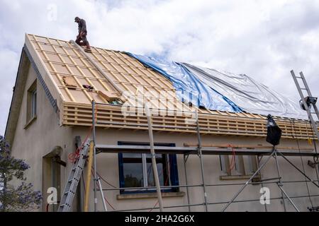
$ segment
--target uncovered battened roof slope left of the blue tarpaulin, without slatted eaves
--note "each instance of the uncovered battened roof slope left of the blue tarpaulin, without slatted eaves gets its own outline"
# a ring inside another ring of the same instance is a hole
[[[96,102],[106,103],[96,92],[88,93],[82,85],[92,85],[95,90],[117,93],[111,83],[69,42],[35,35],[28,35],[27,38],[59,88],[62,100],[90,104],[93,95]],[[174,93],[174,88],[169,80],[145,68],[138,60],[127,54],[95,47],[92,49],[93,52],[90,55],[94,61],[123,90],[136,93],[140,88],[144,88],[149,92],[147,97],[153,99],[159,97],[162,90]],[[63,82],[63,77],[73,78],[77,87],[68,88]],[[177,107],[173,102],[174,97],[172,96],[169,102]],[[152,100],[151,102],[155,103]]]

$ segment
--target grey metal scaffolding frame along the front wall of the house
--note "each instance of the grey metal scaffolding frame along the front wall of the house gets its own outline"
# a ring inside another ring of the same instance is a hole
[[[293,207],[297,210],[297,206],[293,203],[291,198],[310,198],[310,197],[316,197],[319,196],[319,194],[315,194],[315,195],[303,195],[303,196],[289,196],[288,194],[286,194],[286,191],[284,191],[284,189],[282,189],[283,184],[287,184],[287,183],[308,183],[311,182],[313,184],[315,184],[315,186],[317,186],[319,188],[319,177],[318,177],[318,167],[315,167],[315,173],[317,175],[317,179],[313,180],[310,179],[310,177],[308,177],[306,174],[304,174],[302,172],[301,169],[299,169],[296,165],[293,164],[293,162],[291,162],[290,160],[288,160],[288,158],[286,156],[306,156],[306,157],[313,157],[313,159],[315,159],[316,157],[318,157],[318,153],[313,153],[313,152],[302,152],[301,150],[299,150],[299,152],[295,152],[295,151],[291,151],[291,150],[282,150],[279,151],[277,150],[275,147],[272,150],[250,150],[250,149],[246,149],[246,148],[241,148],[241,149],[237,149],[236,150],[236,155],[256,155],[257,156],[257,165],[258,165],[258,169],[256,170],[256,172],[254,172],[254,174],[252,174],[252,177],[250,177],[250,179],[245,182],[245,183],[226,183],[226,184],[206,184],[205,179],[204,179],[204,167],[203,167],[203,155],[231,155],[232,151],[225,149],[225,148],[213,148],[213,147],[202,147],[201,145],[201,130],[200,130],[200,126],[198,124],[198,112],[196,111],[196,126],[194,127],[194,129],[196,129],[196,135],[198,138],[198,146],[197,147],[162,147],[162,146],[152,146],[151,142],[150,145],[99,145],[96,144],[96,125],[97,124],[113,124],[114,122],[112,121],[97,121],[95,119],[95,111],[96,111],[96,106],[97,105],[108,105],[108,104],[104,104],[104,103],[97,103],[94,100],[92,100],[92,127],[93,127],[93,141],[94,141],[94,181],[98,180],[98,177],[96,177],[96,155],[99,153],[150,153],[150,150],[153,148],[154,151],[156,151],[156,153],[161,153],[161,154],[176,154],[176,155],[183,155],[184,157],[184,174],[185,174],[185,183],[184,185],[177,185],[177,186],[159,186],[159,189],[168,189],[168,188],[186,188],[186,197],[187,197],[187,205],[179,205],[179,206],[160,206],[160,207],[150,207],[150,208],[134,208],[134,209],[127,209],[127,210],[115,210],[115,211],[136,211],[136,210],[154,210],[154,209],[167,209],[167,208],[184,208],[187,207],[189,209],[189,211],[191,211],[191,207],[192,206],[203,206],[204,210],[206,212],[208,212],[208,206],[212,206],[212,205],[218,205],[218,204],[226,204],[226,206],[223,208],[222,211],[225,211],[228,206],[230,206],[230,204],[232,203],[240,203],[240,202],[252,202],[252,201],[259,201],[259,199],[252,199],[252,200],[240,200],[240,201],[236,201],[235,199],[237,198],[237,196],[241,193],[241,191],[243,189],[245,189],[245,187],[247,185],[252,185],[252,184],[260,184],[262,187],[264,187],[264,184],[277,184],[279,186],[279,189],[281,190],[281,197],[277,197],[277,198],[270,198],[270,200],[276,200],[276,199],[281,199],[284,203],[284,211],[286,211],[286,206],[285,206],[285,196],[286,198],[291,202],[291,204],[293,205]],[[123,123],[125,124],[125,123]],[[126,123],[127,124],[127,123]],[[157,126],[157,125],[152,125],[152,126]],[[315,142],[315,140],[313,141]],[[279,154],[279,155],[277,155]],[[193,184],[193,185],[189,185],[188,184],[188,180],[187,180],[187,170],[186,170],[186,162],[189,158],[189,155],[198,155],[199,160],[200,160],[200,165],[201,165],[201,184]],[[262,160],[263,156],[267,156],[268,158],[266,160],[266,162],[264,162],[262,165],[260,164],[260,161]],[[286,162],[289,162],[290,165],[292,165],[295,169],[297,169],[298,172],[300,172],[301,174],[303,174],[304,177],[306,177],[306,180],[304,181],[286,181],[283,182],[281,181],[281,173],[279,171],[279,162],[278,162],[278,157],[281,156],[284,158],[284,160],[286,160]],[[277,173],[278,173],[278,177],[276,178],[271,178],[271,179],[262,179],[260,178],[259,182],[252,182],[252,179],[259,174],[261,176],[260,170],[264,167],[264,165],[267,164],[267,162],[270,160],[271,157],[274,157],[276,160],[276,169],[277,169]],[[158,173],[157,173],[157,177],[158,177]],[[96,189],[96,183],[94,183],[94,211],[96,211],[96,203],[97,203],[97,199],[96,199],[96,191],[98,191]],[[230,201],[223,201],[223,202],[215,202],[215,203],[209,203],[208,202],[208,195],[206,193],[206,187],[207,186],[238,186],[238,185],[242,185],[242,188],[237,192],[237,194],[235,194],[235,196],[230,199]],[[191,187],[202,187],[203,189],[203,203],[191,203],[191,198],[189,196],[189,188]],[[99,191],[101,191],[101,193],[103,193],[103,191],[120,191],[120,190],[130,190],[130,189],[144,189],[144,190],[149,190],[149,189],[158,189],[157,186],[155,187],[133,187],[133,188],[113,188],[113,189],[99,189]],[[158,197],[157,197],[158,198]],[[159,199],[159,198],[158,198]],[[159,200],[158,200],[159,201]],[[265,211],[267,211],[267,205],[264,205]]]

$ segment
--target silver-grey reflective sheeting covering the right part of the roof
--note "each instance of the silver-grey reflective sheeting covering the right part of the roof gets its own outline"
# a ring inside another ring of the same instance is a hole
[[[293,102],[267,86],[257,83],[249,76],[220,72],[191,64],[183,65],[201,82],[228,97],[245,112],[296,119],[308,118],[298,102]]]

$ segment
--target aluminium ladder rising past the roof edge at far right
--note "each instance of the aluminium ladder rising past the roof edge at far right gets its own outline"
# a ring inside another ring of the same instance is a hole
[[[299,74],[300,74],[300,77],[296,76],[295,73],[293,71],[291,71],[291,75],[293,77],[293,81],[295,81],[295,83],[296,83],[296,87],[297,87],[298,93],[299,93],[299,95],[301,97],[301,101],[302,101],[303,107],[306,109],[306,112],[308,114],[308,118],[310,120],[310,123],[313,126],[313,131],[315,132],[315,135],[317,136],[318,141],[319,141],[318,124],[316,123],[315,119],[313,118],[313,114],[315,114],[317,116],[317,120],[319,120],[318,108],[315,105],[315,102],[310,102],[310,106],[308,106],[308,103],[305,100],[305,96],[303,95],[303,90],[307,91],[308,97],[313,97],[313,95],[311,95],[311,92],[310,92],[309,86],[308,86],[308,84],[306,82],[305,76],[303,76],[302,72],[299,73]],[[298,79],[301,79],[303,81],[303,86],[304,87],[301,87],[301,85],[299,85]],[[315,112],[312,112],[311,108],[313,108],[313,110]]]

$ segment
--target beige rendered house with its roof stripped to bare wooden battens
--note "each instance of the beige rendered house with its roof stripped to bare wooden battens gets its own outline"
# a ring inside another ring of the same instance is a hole
[[[86,137],[92,139],[93,119],[100,147],[96,171],[108,210],[158,210],[147,118],[136,98],[155,109],[152,132],[159,182],[167,186],[162,190],[164,210],[222,210],[272,153],[272,145],[265,141],[266,116],[197,108],[181,102],[175,91],[172,81],[130,54],[93,47],[84,55],[67,41],[26,35],[5,136],[12,155],[30,164],[27,178],[43,192],[41,210],[57,210],[58,205],[47,206],[47,189],[55,187],[60,200],[72,153]],[[162,107],[156,109],[157,105]],[[303,119],[274,119],[282,130],[277,150],[293,165],[278,156],[278,171],[276,159],[269,159],[227,210],[295,210],[280,188],[299,210],[318,206],[318,167],[308,165],[316,156],[310,125]],[[314,182],[306,183],[300,171]],[[84,177],[74,211],[83,209]],[[278,186],[279,180],[283,186]],[[269,188],[269,205],[260,203],[262,186]],[[93,211],[93,183],[90,189]],[[99,189],[96,194],[96,210],[102,211]]]

